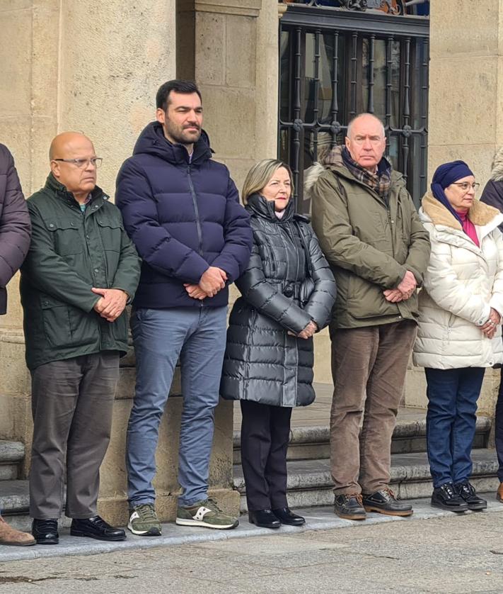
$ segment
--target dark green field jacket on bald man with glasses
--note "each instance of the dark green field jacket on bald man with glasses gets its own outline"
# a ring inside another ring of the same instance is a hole
[[[103,350],[127,350],[127,315],[115,322],[93,307],[91,287],[120,288],[129,301],[139,281],[139,258],[119,209],[96,187],[82,213],[73,194],[49,175],[28,198],[32,239],[21,267],[26,364]]]

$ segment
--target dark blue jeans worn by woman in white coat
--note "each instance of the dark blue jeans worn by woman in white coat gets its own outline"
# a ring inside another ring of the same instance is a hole
[[[428,412],[426,439],[433,486],[462,483],[472,472],[470,452],[477,400],[485,369],[424,369]]]

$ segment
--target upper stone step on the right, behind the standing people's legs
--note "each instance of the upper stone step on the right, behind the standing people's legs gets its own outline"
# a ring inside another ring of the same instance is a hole
[[[478,416],[473,449],[487,447],[491,419]],[[233,462],[241,464],[241,434],[233,435]],[[426,451],[426,411],[400,409],[391,442],[392,454],[412,454]],[[330,457],[330,429],[328,425],[291,427],[287,460],[313,460]]]

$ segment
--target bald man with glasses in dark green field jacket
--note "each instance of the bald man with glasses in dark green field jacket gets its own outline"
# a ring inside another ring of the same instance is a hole
[[[60,134],[50,147],[47,182],[28,199],[32,241],[21,268],[21,303],[32,377],[30,515],[38,544],[59,541],[65,461],[71,534],[126,537],[97,515],[96,503],[139,258],[120,211],[96,186],[100,163],[86,136]]]

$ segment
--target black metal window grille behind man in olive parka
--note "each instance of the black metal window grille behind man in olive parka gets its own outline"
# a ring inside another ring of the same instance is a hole
[[[294,6],[280,21],[279,158],[294,172],[296,206],[309,209],[304,171],[344,142],[368,111],[383,121],[386,155],[419,203],[427,182],[429,21]]]

